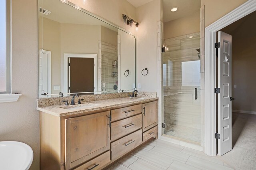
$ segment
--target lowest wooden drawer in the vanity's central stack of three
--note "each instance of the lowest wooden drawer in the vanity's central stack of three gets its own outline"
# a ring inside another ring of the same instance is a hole
[[[142,143],[141,140],[141,130],[129,134],[111,144],[111,160],[116,160],[120,158],[123,154],[131,151]]]

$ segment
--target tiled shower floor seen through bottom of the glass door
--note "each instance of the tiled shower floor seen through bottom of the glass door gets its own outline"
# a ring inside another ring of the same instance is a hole
[[[190,140],[193,142],[200,143],[201,132],[198,128],[185,127],[181,125],[173,125],[166,123],[166,128],[164,129],[164,134],[168,136],[174,136],[176,138],[181,138],[185,140]]]

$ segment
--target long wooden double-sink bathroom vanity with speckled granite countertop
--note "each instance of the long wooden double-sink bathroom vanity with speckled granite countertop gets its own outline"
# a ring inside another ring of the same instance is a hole
[[[54,99],[59,100],[38,101],[42,170],[103,169],[157,138],[156,96],[87,99],[70,106],[51,103]]]

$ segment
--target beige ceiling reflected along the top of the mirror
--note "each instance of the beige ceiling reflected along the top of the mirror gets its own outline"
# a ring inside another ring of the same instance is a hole
[[[51,11],[47,16],[39,13],[40,16],[48,18],[50,20],[57,21],[59,23],[68,24],[84,24],[84,25],[98,25],[104,26],[114,31],[118,31],[117,28],[102,22],[76,8],[69,6],[68,4],[62,3],[60,0],[39,0],[39,6]]]

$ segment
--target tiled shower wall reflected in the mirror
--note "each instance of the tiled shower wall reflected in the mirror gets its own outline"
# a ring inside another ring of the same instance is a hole
[[[117,68],[112,68],[113,61],[117,61],[117,45],[100,42],[101,47],[101,87],[103,91],[114,91],[117,85],[117,77],[112,77],[112,71],[117,72]],[[114,69],[114,70],[113,70]],[[106,87],[103,87],[103,83]]]

